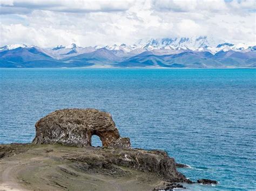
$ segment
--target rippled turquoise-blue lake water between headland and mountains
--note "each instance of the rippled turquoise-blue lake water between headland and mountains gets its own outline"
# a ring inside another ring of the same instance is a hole
[[[192,190],[256,188],[256,69],[0,69],[0,144],[31,142],[62,108],[108,111],[133,147],[219,181]]]

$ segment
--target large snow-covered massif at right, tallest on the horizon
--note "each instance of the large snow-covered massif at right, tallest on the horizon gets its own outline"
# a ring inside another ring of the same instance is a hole
[[[210,52],[215,54],[219,51],[246,51],[250,46],[246,44],[231,44],[223,40],[214,39],[212,37],[179,37],[179,38],[160,38],[160,39],[140,39],[132,45],[113,45],[106,46],[110,51],[124,51],[130,53],[136,49],[144,51],[153,51],[161,54],[161,52],[172,54],[176,51],[199,51]],[[174,51],[175,50],[175,51]],[[142,53],[143,51],[140,51]]]

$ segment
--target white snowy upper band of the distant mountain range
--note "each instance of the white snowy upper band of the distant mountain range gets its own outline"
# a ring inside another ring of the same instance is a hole
[[[0,51],[7,51],[10,49],[16,49],[18,47],[31,48],[35,47],[41,52],[52,56],[53,58],[61,59],[74,55],[94,52],[97,49],[105,48],[111,51],[117,56],[130,56],[140,54],[145,51],[151,51],[158,55],[174,54],[184,51],[196,51],[196,52],[210,52],[215,54],[223,51],[236,51],[236,52],[249,52],[256,51],[255,45],[246,44],[231,44],[223,40],[214,39],[206,36],[194,36],[194,37],[175,37],[175,38],[145,38],[139,39],[132,45],[127,44],[114,44],[112,46],[94,46],[94,47],[79,47],[76,44],[69,46],[56,46],[52,49],[44,49],[36,46],[28,46],[25,44],[14,44],[0,47]]]

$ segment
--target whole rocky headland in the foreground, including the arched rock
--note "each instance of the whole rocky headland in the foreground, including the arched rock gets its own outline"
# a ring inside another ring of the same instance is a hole
[[[91,146],[92,135],[103,147]],[[189,166],[161,150],[132,148],[111,115],[95,109],[58,110],[40,119],[32,144],[0,145],[0,167],[0,190],[171,190],[195,183],[177,171]]]

